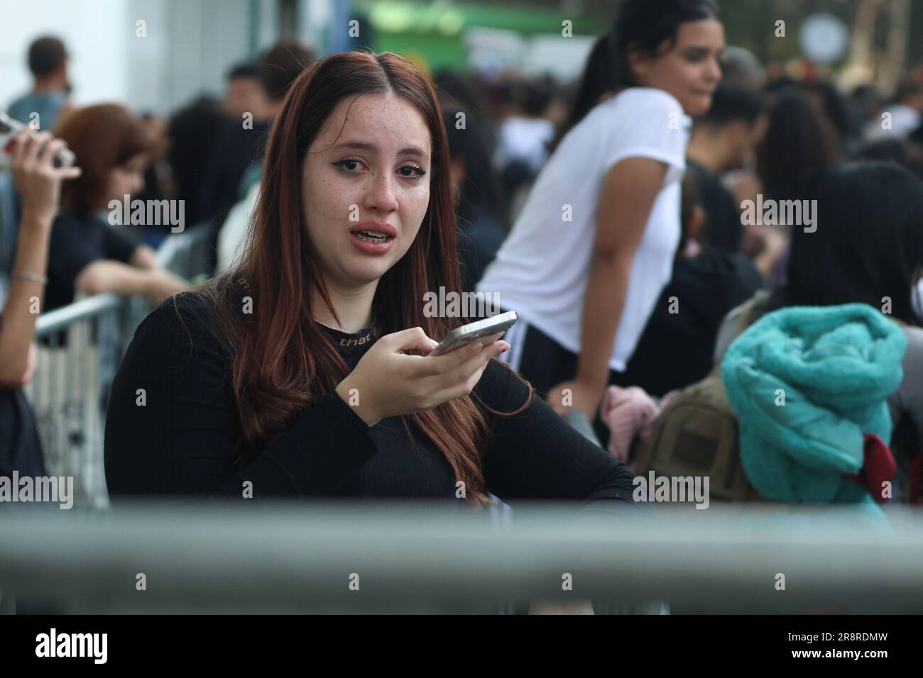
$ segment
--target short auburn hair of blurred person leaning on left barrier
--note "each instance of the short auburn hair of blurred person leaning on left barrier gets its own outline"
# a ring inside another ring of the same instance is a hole
[[[65,113],[54,125],[54,136],[64,139],[77,156],[82,173],[62,184],[61,204],[81,216],[92,213],[106,199],[109,172],[151,149],[141,122],[117,103]]]

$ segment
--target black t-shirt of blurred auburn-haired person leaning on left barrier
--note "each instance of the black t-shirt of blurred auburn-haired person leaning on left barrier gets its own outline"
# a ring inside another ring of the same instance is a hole
[[[99,217],[62,209],[54,220],[48,245],[48,287],[45,311],[74,301],[74,280],[81,270],[101,259],[128,263],[141,244],[137,238]]]

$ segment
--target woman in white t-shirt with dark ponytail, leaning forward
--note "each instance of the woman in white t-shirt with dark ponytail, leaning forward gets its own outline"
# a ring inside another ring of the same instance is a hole
[[[713,0],[625,0],[478,291],[520,322],[505,358],[559,413],[595,417],[670,280],[689,116],[721,79]],[[569,390],[566,390],[569,389]]]

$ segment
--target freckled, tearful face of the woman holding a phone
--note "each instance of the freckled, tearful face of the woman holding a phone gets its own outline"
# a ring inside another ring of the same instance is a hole
[[[303,216],[325,280],[360,287],[407,253],[429,206],[431,153],[426,120],[409,101],[391,94],[340,101],[302,168]],[[357,245],[360,224],[390,225],[390,248]]]

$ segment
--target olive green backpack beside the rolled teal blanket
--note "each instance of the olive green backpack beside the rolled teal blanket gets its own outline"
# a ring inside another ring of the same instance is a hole
[[[758,291],[741,309],[737,335],[766,311],[769,292]],[[740,465],[737,414],[725,395],[721,363],[700,382],[670,398],[653,433],[634,446],[635,472],[647,476],[707,476],[715,501],[765,501]]]

